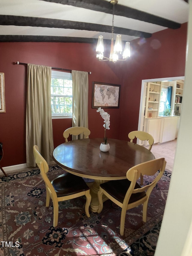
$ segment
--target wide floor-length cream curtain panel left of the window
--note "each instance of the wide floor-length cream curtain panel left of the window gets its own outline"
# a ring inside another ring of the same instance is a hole
[[[51,67],[27,65],[26,157],[27,166],[36,166],[33,146],[49,164],[52,161]]]

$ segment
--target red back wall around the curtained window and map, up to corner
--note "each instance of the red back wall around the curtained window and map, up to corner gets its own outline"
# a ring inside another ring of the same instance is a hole
[[[0,72],[4,73],[6,112],[0,113],[0,141],[3,143],[4,157],[1,166],[26,163],[26,74],[23,65],[16,61],[91,71],[89,75],[88,119],[90,137],[104,136],[103,119],[91,108],[92,82],[121,84],[123,65],[99,62],[94,44],[75,43],[0,43]],[[107,110],[106,110],[107,111]],[[119,137],[121,109],[110,110],[111,129],[108,137]],[[63,131],[72,125],[71,119],[53,119],[54,147],[64,141]]]

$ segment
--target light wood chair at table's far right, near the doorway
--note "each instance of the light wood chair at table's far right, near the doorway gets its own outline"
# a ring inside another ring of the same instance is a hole
[[[131,131],[128,134],[130,142],[133,142],[134,138],[138,138],[139,140],[146,140],[149,143],[149,150],[151,151],[154,139],[153,136],[145,131]],[[143,176],[140,177],[140,184],[143,185]]]

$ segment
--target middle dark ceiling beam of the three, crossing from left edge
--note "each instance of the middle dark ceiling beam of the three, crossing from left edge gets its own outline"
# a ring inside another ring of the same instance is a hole
[[[70,21],[70,20],[57,20],[57,19],[13,16],[13,15],[0,15],[0,25],[78,29],[78,30],[111,33],[111,26],[107,26],[107,25],[77,22],[77,21]],[[122,34],[122,35],[131,35],[135,37],[144,37],[144,38],[149,38],[152,36],[152,34],[150,33],[137,31],[133,29],[125,29],[120,27],[114,27],[114,33]]]

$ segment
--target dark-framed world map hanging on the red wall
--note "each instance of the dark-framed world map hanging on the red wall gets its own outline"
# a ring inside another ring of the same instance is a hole
[[[93,82],[92,108],[119,108],[119,84]]]

